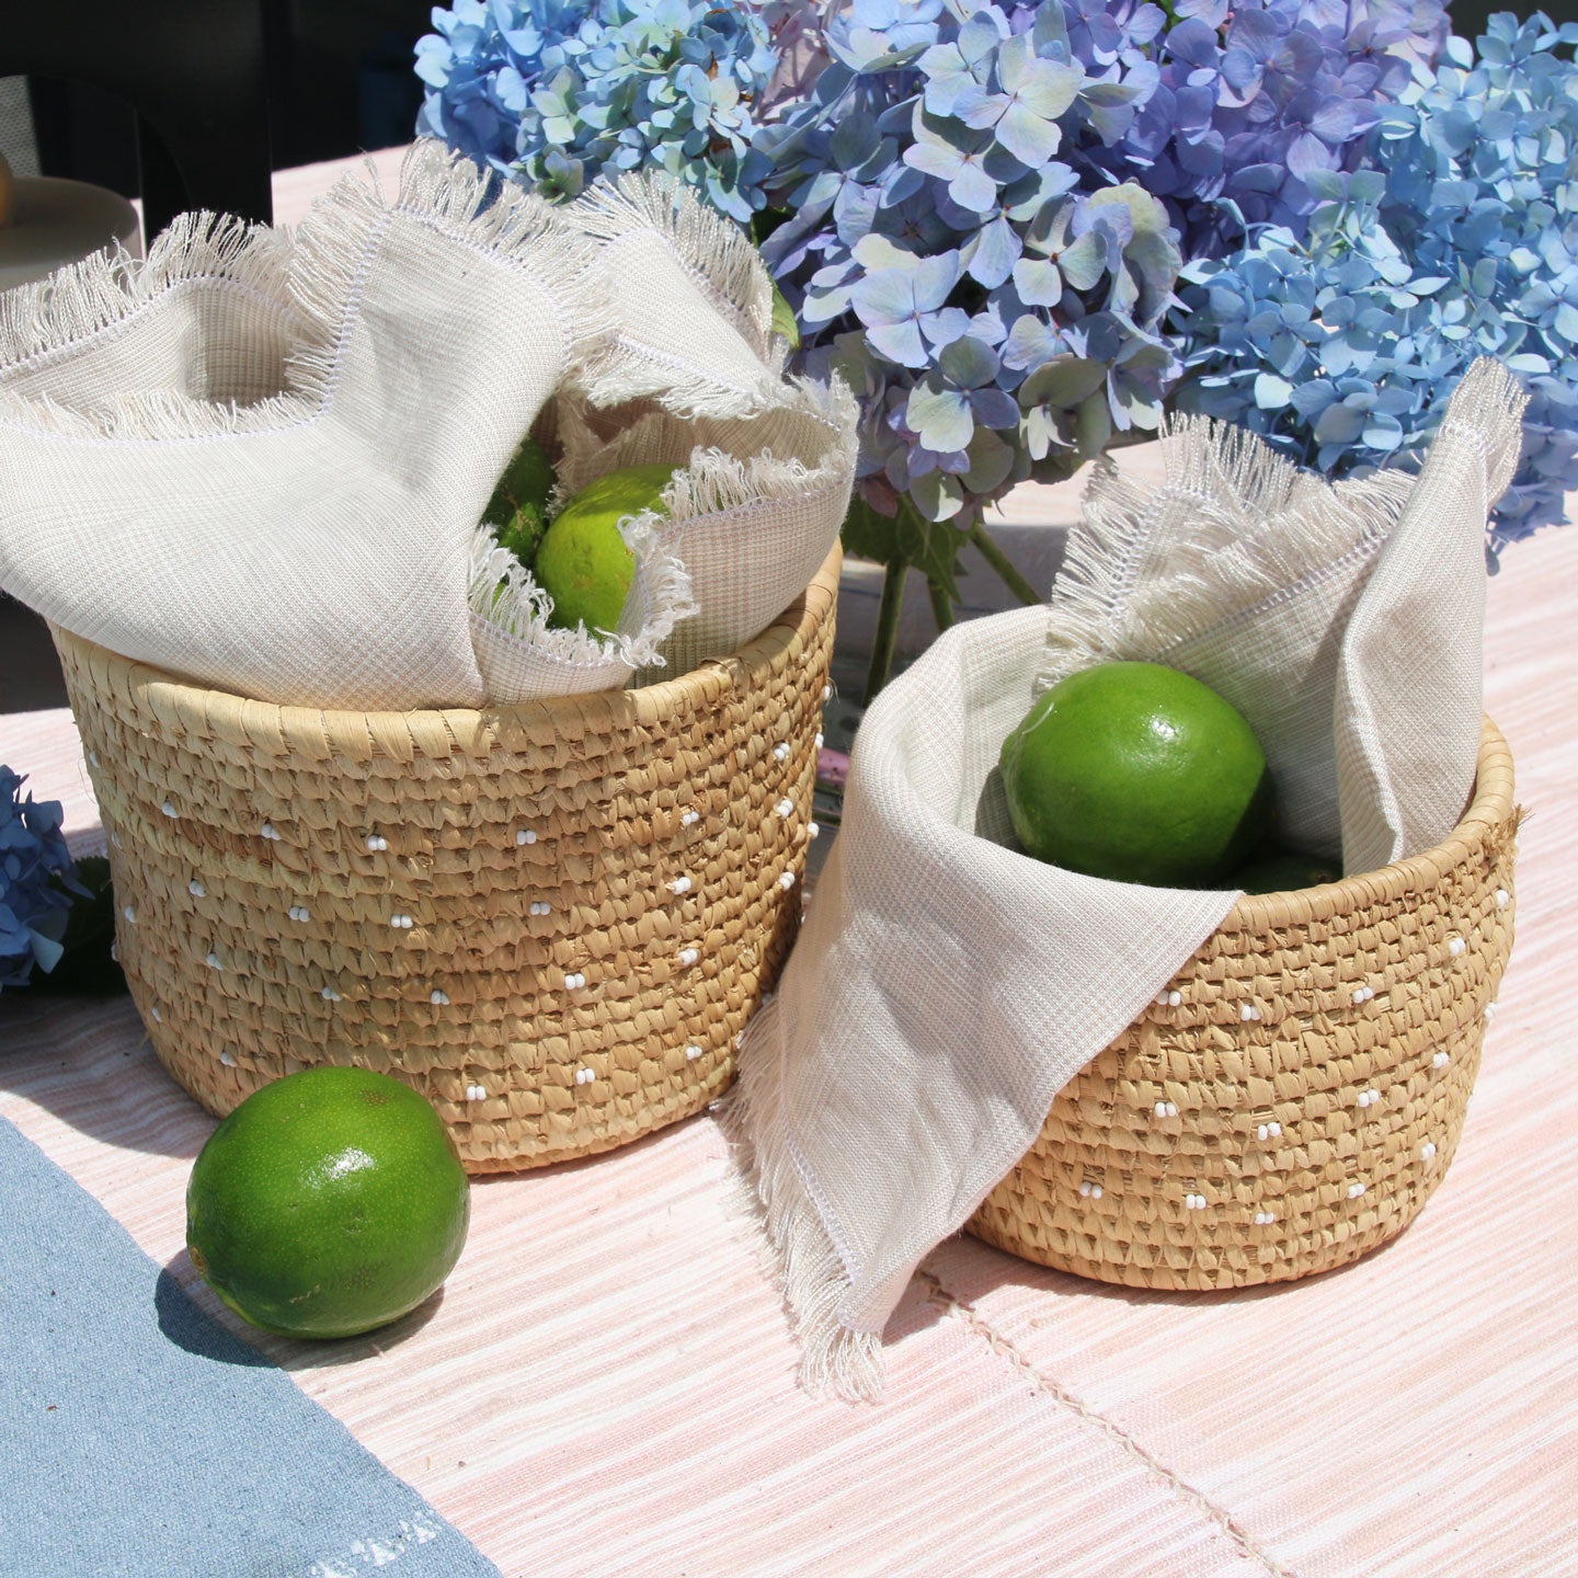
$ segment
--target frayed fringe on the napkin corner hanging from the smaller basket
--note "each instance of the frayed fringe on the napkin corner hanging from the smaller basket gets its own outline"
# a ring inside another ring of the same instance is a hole
[[[729,1210],[754,1226],[783,1292],[800,1343],[800,1387],[811,1397],[874,1403],[885,1379],[882,1335],[838,1319],[849,1273],[783,1138],[776,1021],[775,1002],[756,1015],[734,1089],[713,1106],[734,1163]]]

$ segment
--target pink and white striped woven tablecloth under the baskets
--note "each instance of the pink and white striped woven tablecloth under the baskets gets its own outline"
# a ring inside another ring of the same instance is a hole
[[[281,216],[331,174],[281,178]],[[1076,497],[1019,489],[1010,511],[1067,519]],[[888,1329],[885,1400],[813,1401],[697,1117],[477,1180],[442,1297],[394,1327],[246,1335],[507,1578],[1578,1575],[1575,585],[1578,527],[1491,582],[1486,709],[1531,813],[1518,942],[1449,1176],[1356,1266],[1146,1294],[961,1237]],[[68,713],[0,716],[0,761],[92,835]],[[237,1329],[185,1253],[213,1120],[129,1002],[14,993],[0,1045],[0,1114]]]

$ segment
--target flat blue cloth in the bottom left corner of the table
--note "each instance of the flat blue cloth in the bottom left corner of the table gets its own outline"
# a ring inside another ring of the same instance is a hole
[[[0,1119],[0,1573],[499,1578]]]

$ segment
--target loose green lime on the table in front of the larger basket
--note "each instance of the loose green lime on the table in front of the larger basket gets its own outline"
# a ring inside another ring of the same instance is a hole
[[[439,1114],[366,1068],[308,1068],[254,1090],[186,1185],[193,1266],[281,1337],[353,1337],[415,1310],[459,1259],[469,1220]]]

